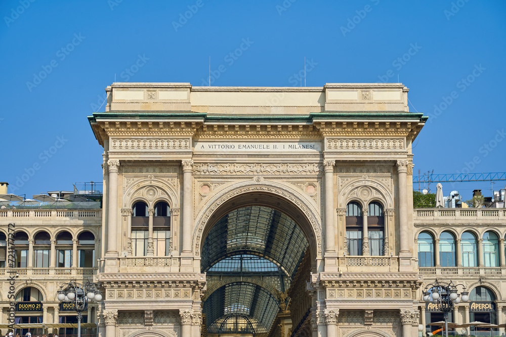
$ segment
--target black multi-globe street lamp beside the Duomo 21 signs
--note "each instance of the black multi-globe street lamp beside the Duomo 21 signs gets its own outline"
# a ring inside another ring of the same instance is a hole
[[[77,311],[77,337],[81,337],[81,318],[82,312],[88,301],[102,301],[102,292],[95,289],[95,285],[87,281],[81,288],[75,281],[63,283],[58,290],[58,301],[72,303],[74,310]]]

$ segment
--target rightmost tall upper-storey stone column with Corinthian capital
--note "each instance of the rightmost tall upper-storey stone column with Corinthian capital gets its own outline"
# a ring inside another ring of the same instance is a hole
[[[399,255],[410,256],[409,254],[409,243],[411,239],[409,236],[409,224],[408,224],[408,191],[407,191],[407,160],[397,161],[397,175],[399,180],[399,241],[400,241],[400,252]]]

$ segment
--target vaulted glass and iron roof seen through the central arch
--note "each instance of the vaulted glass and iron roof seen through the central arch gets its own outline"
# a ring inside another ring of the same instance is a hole
[[[297,223],[273,208],[242,207],[220,218],[204,240],[201,270],[208,288],[230,282],[206,296],[207,332],[269,332],[279,309],[289,305],[283,294],[308,247]]]

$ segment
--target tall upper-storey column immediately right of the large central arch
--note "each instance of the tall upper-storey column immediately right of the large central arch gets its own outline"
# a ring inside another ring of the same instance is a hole
[[[325,168],[325,256],[335,255],[334,238],[334,165],[335,160],[323,161]]]

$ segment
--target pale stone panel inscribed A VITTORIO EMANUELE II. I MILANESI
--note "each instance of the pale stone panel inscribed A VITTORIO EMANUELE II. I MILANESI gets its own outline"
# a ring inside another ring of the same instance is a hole
[[[195,151],[205,152],[320,152],[318,141],[196,141]]]

